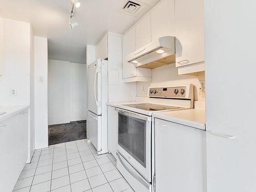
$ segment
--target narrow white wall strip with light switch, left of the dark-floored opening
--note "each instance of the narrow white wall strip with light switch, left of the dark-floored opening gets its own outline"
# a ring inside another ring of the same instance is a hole
[[[35,148],[48,146],[48,50],[47,38],[34,37]],[[42,78],[42,82],[41,82]]]

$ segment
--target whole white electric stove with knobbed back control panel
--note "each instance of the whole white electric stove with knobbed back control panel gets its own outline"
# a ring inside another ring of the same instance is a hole
[[[117,168],[135,191],[152,191],[152,114],[194,108],[193,88],[152,87],[146,102],[116,105]]]

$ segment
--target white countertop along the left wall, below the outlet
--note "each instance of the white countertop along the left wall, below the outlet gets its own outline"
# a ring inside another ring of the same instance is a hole
[[[12,116],[19,114],[29,108],[29,105],[18,105],[18,106],[0,106],[0,112],[6,112],[0,115],[0,122],[4,121]]]

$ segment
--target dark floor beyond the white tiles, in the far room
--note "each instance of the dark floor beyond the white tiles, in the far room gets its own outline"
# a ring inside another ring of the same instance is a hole
[[[86,139],[86,120],[49,125],[49,145]]]

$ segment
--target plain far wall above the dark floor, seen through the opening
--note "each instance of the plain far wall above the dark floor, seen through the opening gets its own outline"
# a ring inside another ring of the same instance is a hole
[[[48,60],[48,124],[86,119],[86,65]]]

